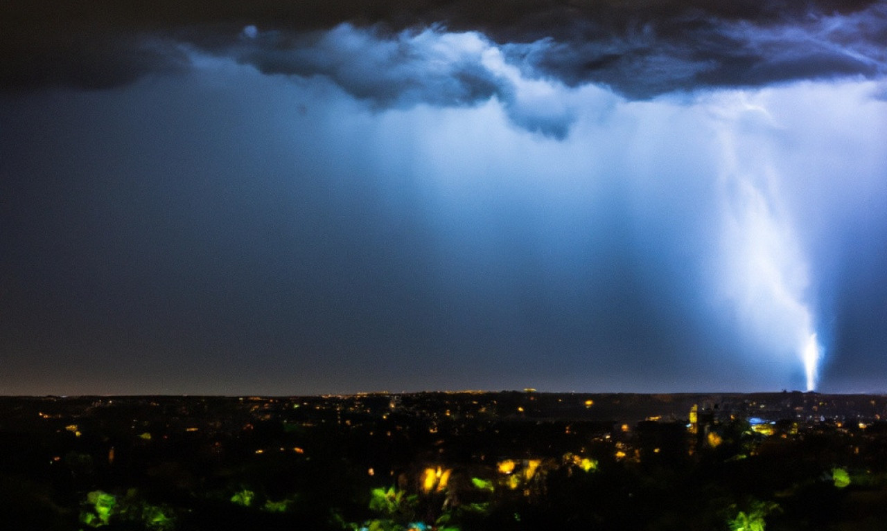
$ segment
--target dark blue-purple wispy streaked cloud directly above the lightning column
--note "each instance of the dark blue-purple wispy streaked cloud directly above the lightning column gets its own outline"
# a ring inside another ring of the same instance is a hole
[[[603,83],[629,98],[887,73],[883,6],[852,15],[808,12],[761,20],[648,20],[618,37],[506,44],[527,74]]]

